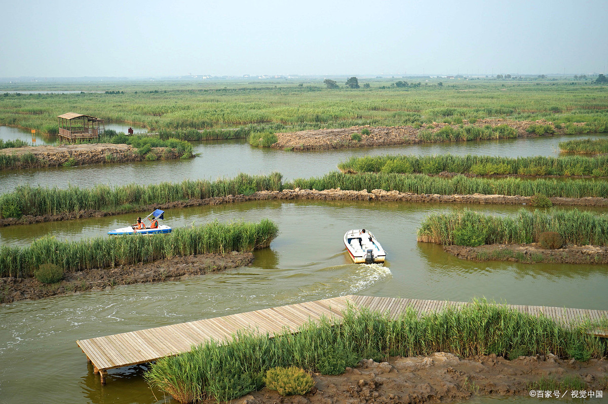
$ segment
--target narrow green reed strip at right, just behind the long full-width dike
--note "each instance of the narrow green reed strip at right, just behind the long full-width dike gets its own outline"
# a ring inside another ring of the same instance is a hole
[[[576,142],[576,141],[573,141]],[[606,142],[608,148],[608,141]],[[480,176],[608,176],[608,156],[492,157],[492,156],[376,156],[351,157],[339,163],[343,173],[424,173],[442,171]]]

